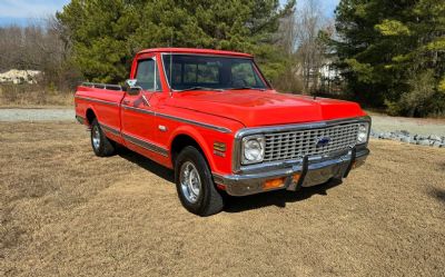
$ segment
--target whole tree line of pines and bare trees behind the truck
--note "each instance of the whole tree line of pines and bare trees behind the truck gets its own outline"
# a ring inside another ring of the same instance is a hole
[[[354,99],[393,115],[445,112],[444,0],[71,0],[44,26],[0,28],[0,70],[47,83],[122,82],[145,48],[249,52],[283,92]],[[328,76],[326,76],[328,72]],[[330,72],[334,72],[330,76]]]

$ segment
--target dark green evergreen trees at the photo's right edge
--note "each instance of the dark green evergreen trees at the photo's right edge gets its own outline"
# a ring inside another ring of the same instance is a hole
[[[349,90],[397,115],[445,107],[444,0],[342,0],[334,42]]]

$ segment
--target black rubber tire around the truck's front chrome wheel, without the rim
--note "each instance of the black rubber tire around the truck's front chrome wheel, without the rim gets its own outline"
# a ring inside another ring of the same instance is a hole
[[[190,201],[187,197],[185,186],[182,186],[180,180],[182,167],[190,164],[195,167],[200,179],[200,189],[195,202]],[[188,211],[204,217],[218,214],[222,210],[224,200],[215,187],[207,161],[195,147],[188,146],[178,155],[175,162],[175,182],[179,200]]]

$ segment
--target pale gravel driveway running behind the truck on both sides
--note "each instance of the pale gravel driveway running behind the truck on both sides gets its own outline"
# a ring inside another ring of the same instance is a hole
[[[373,116],[375,131],[407,130],[418,135],[445,136],[445,120]],[[0,121],[73,121],[75,110],[66,109],[0,109]]]

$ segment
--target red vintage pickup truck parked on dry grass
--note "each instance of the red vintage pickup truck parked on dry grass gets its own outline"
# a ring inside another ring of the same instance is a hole
[[[75,98],[97,156],[118,144],[172,168],[182,206],[200,216],[222,209],[222,191],[295,191],[369,154],[357,103],[278,93],[247,53],[147,49],[125,86],[83,83]]]

